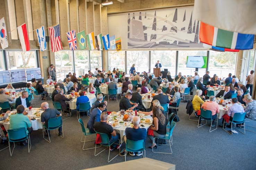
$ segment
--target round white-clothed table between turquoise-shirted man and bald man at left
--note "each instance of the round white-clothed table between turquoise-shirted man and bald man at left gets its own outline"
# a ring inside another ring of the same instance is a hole
[[[28,111],[28,115],[29,116],[34,116],[33,114],[39,110],[40,113],[43,113],[43,110],[41,110],[41,108],[32,108],[31,111]],[[11,111],[11,113],[13,113],[14,111]],[[9,116],[11,115],[11,113],[9,113]],[[43,128],[43,123],[41,122],[41,117],[35,117],[35,120],[31,120],[31,124],[32,124],[32,129],[33,131],[36,131],[38,129],[42,129]],[[0,122],[0,125],[3,125],[6,129],[6,131],[9,129],[10,127],[10,123],[3,123],[2,121]]]

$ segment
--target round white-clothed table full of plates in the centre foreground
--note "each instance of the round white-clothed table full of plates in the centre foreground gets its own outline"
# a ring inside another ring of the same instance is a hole
[[[119,111],[118,113],[120,114],[120,111]],[[135,116],[134,111],[133,111],[132,115]],[[142,114],[142,115],[144,115],[144,114]],[[108,120],[111,120],[112,118],[113,118],[113,116],[108,115]],[[147,115],[146,117],[143,117],[143,118],[144,118],[144,119],[150,119],[151,122],[153,121],[152,117],[149,116],[149,115]],[[118,119],[119,119],[118,122],[122,121],[122,118],[120,117],[120,115],[118,115]],[[112,121],[112,123],[113,123],[113,121]],[[129,124],[129,126],[125,126],[125,124],[122,124],[122,125],[119,124],[118,127],[113,127],[114,131],[116,131],[117,133],[120,134],[120,143],[123,143],[123,142],[124,142],[123,136],[125,136],[125,129],[126,129],[127,127],[131,127],[131,125],[130,125],[131,122],[126,122],[126,123]],[[151,124],[152,124],[152,123],[146,124],[146,123],[143,122],[143,123],[140,123],[140,125],[144,125],[144,127],[142,127],[142,126],[139,126],[139,127],[140,127],[140,128],[148,129],[148,127],[150,127]]]

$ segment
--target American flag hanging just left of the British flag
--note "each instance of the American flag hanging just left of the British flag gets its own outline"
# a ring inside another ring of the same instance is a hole
[[[49,27],[51,44],[52,44],[52,52],[57,52],[62,50],[61,40],[60,40],[60,25],[56,25],[53,27]]]

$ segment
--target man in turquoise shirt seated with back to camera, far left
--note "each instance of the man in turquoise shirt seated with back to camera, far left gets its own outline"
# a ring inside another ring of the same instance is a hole
[[[14,115],[10,115],[10,120],[9,120],[9,129],[19,129],[19,128],[26,128],[26,133],[30,134],[32,132],[32,124],[31,124],[31,119],[30,117],[27,117],[25,115],[23,115],[24,113],[24,106],[23,105],[19,105],[17,106],[17,113]],[[26,145],[26,141],[22,141],[20,142],[21,145]]]

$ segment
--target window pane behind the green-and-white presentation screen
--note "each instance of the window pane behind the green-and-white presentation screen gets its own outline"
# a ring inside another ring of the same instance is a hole
[[[178,55],[178,73],[181,72],[182,75],[192,75],[194,76],[195,68],[187,67],[187,56],[207,56],[207,51],[179,51]],[[206,69],[198,69],[198,74],[203,77]]]

